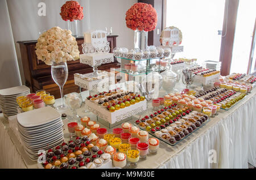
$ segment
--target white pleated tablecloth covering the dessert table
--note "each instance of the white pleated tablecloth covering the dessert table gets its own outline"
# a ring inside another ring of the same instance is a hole
[[[164,93],[164,92],[160,92]],[[230,110],[221,110],[210,121],[188,138],[174,146],[160,142],[156,155],[148,155],[146,160],[138,162],[138,168],[248,168],[247,162],[256,166],[256,90],[253,89]],[[88,96],[88,92],[82,92]],[[60,100],[56,100],[57,105]],[[77,111],[82,117],[87,115],[96,120],[96,115],[84,113],[84,104]],[[63,112],[60,112],[63,113]],[[70,110],[65,111],[71,114]],[[137,114],[131,120],[139,118]],[[64,121],[64,138],[68,140],[67,123]],[[38,168],[31,161],[15,130],[12,130],[0,114],[0,168]]]

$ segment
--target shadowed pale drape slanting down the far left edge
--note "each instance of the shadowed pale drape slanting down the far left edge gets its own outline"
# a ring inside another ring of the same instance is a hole
[[[0,1],[0,89],[21,84],[6,0]]]

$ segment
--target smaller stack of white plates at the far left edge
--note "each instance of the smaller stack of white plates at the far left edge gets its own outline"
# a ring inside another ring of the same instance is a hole
[[[24,85],[0,90],[0,106],[5,119],[8,120],[9,116],[18,114],[19,105],[16,97],[27,96],[29,93],[30,88]]]

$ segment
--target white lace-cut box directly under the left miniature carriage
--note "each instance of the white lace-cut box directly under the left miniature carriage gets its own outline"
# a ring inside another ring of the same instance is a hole
[[[89,66],[100,66],[106,63],[114,62],[113,53],[88,53],[80,54],[80,63]]]

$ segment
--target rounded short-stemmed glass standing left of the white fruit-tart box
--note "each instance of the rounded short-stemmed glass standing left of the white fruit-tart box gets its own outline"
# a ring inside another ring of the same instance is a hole
[[[77,92],[72,92],[68,95],[65,95],[64,97],[65,97],[65,104],[73,112],[73,115],[71,117],[72,121],[79,122],[80,117],[79,117],[79,115],[77,115],[76,110],[81,108],[81,106],[82,106],[82,97],[81,97],[81,95]]]

